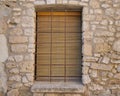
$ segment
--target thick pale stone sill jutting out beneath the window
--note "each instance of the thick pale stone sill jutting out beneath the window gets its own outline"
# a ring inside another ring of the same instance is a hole
[[[54,93],[84,93],[85,86],[77,82],[35,82],[31,88],[32,92],[54,92]]]

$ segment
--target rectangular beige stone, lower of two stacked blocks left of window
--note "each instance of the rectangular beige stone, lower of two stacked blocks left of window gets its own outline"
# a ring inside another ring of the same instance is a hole
[[[27,45],[26,44],[12,44],[11,50],[14,53],[25,53],[27,51]]]

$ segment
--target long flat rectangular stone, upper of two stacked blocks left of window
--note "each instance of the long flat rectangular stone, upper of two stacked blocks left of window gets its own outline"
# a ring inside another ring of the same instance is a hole
[[[9,37],[10,43],[26,43],[28,42],[28,38],[25,36],[10,36]]]

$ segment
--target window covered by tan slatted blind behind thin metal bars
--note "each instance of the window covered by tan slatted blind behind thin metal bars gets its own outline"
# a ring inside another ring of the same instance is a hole
[[[36,80],[79,81],[81,35],[81,12],[37,12]]]

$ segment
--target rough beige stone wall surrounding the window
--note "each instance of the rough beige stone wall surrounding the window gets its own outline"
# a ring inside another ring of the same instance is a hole
[[[81,89],[35,86],[35,12],[55,4],[83,8]],[[120,0],[0,0],[0,96],[120,96],[119,38]]]

